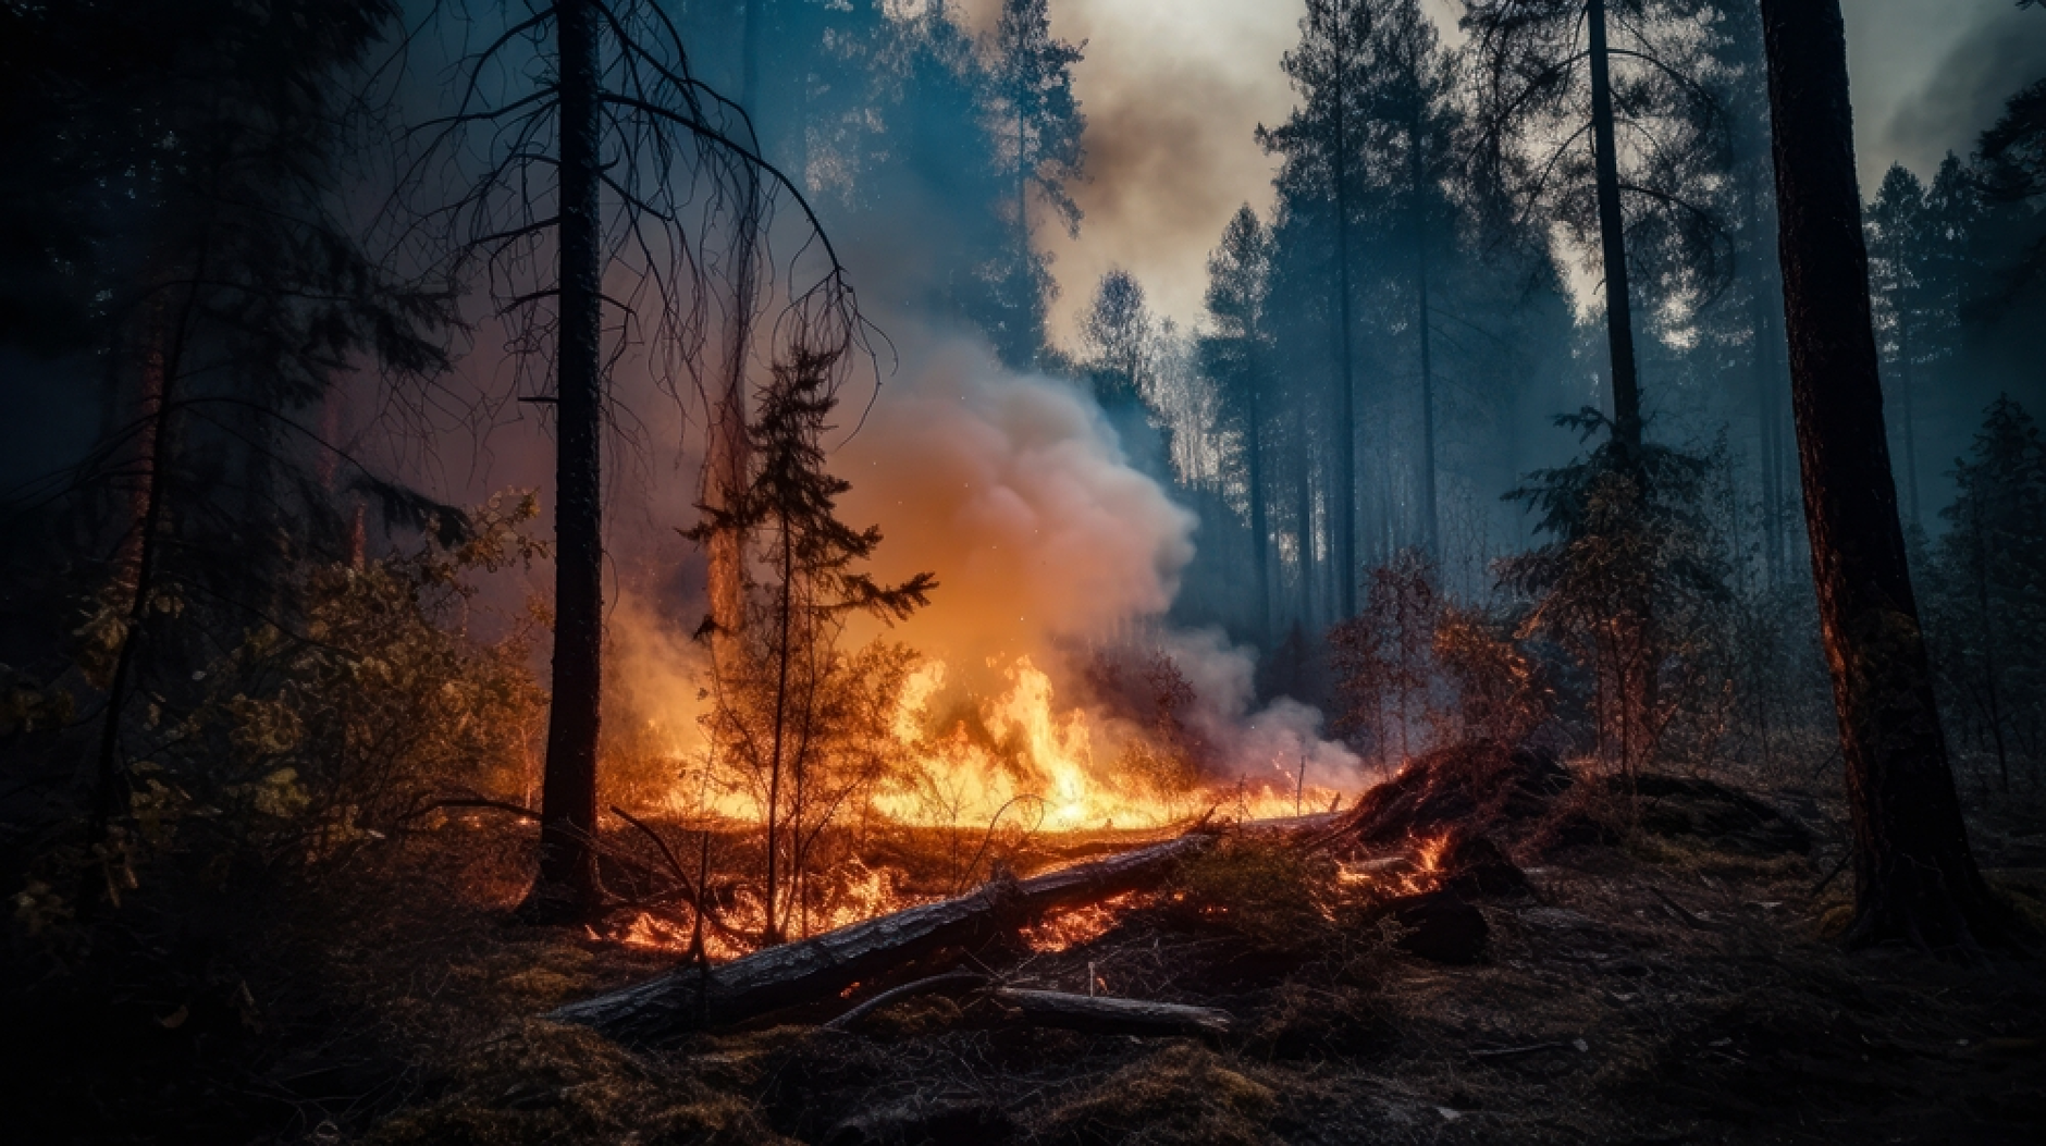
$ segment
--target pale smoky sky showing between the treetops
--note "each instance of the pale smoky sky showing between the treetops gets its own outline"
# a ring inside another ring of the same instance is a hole
[[[1453,39],[1457,0],[1424,0]],[[986,27],[996,0],[966,0]],[[1271,205],[1273,158],[1254,139],[1293,108],[1279,55],[1301,0],[1052,0],[1052,31],[1086,41],[1074,92],[1088,180],[1072,188],[1078,239],[1039,233],[1060,284],[1054,336],[1111,266],[1187,325],[1201,315],[1207,252],[1238,205]],[[2046,10],[2013,0],[1841,0],[1864,194],[1891,162],[1929,178],[1968,151],[2005,96],[2046,74]]]

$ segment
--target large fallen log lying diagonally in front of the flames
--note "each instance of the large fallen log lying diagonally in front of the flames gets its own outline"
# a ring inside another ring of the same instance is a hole
[[[546,1017],[593,1027],[624,1044],[655,1044],[694,1029],[741,1023],[829,999],[947,947],[984,943],[1050,911],[1156,886],[1181,859],[1203,851],[1213,839],[1189,833],[1029,880],[990,882],[958,898],[765,947],[714,968],[681,966],[634,986],[569,1003]]]

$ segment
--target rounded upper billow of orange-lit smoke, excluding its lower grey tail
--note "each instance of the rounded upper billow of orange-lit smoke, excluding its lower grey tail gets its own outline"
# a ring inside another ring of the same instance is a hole
[[[943,585],[898,636],[953,661],[1162,614],[1193,561],[1193,514],[1123,462],[1091,397],[966,340],[890,379],[833,469],[853,483],[845,520],[882,528],[878,571]]]

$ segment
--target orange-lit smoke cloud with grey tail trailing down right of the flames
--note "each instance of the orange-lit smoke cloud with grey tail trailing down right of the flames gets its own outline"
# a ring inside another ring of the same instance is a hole
[[[1005,372],[964,338],[904,368],[835,469],[853,481],[845,520],[882,528],[878,573],[939,577],[931,608],[890,636],[945,659],[968,688],[998,688],[1019,655],[1070,686],[1074,641],[1160,618],[1193,559],[1195,516],[1125,462],[1091,395]],[[1207,630],[1158,643],[1195,692],[1193,733],[1226,767],[1269,782],[1305,757],[1311,784],[1359,784],[1356,757],[1320,739],[1320,712],[1252,710],[1248,651]]]

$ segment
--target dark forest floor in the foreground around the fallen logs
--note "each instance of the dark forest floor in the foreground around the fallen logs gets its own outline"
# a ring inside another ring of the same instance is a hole
[[[1762,798],[1819,845],[1661,817],[1616,845],[1520,853],[1532,894],[1479,905],[1489,937],[1465,966],[1402,952],[1387,923],[1260,913],[1258,872],[1234,917],[1168,888],[1064,950],[978,954],[1013,986],[1093,978],[1230,1011],[1232,1033],[1209,1040],[1025,1027],[988,1001],[923,997],[843,1033],[818,1025],[849,1005],[833,1001],[626,1050],[538,1015],[675,956],[509,923],[493,902],[516,896],[520,845],[471,841],[454,849],[469,870],[426,876],[462,896],[401,896],[409,909],[329,952],[346,1021],[313,1025],[342,1033],[270,1052],[258,1076],[166,1083],[162,1109],[207,1083],[217,1103],[264,1107],[266,1142],[376,1146],[2040,1142],[2046,968],[1841,954],[1850,876],[1815,892],[1837,808]],[[1997,806],[1974,821],[1976,851],[2046,921],[2046,814]],[[1078,857],[1058,851],[1037,859]],[[164,1128],[121,1138],[186,1140]]]

